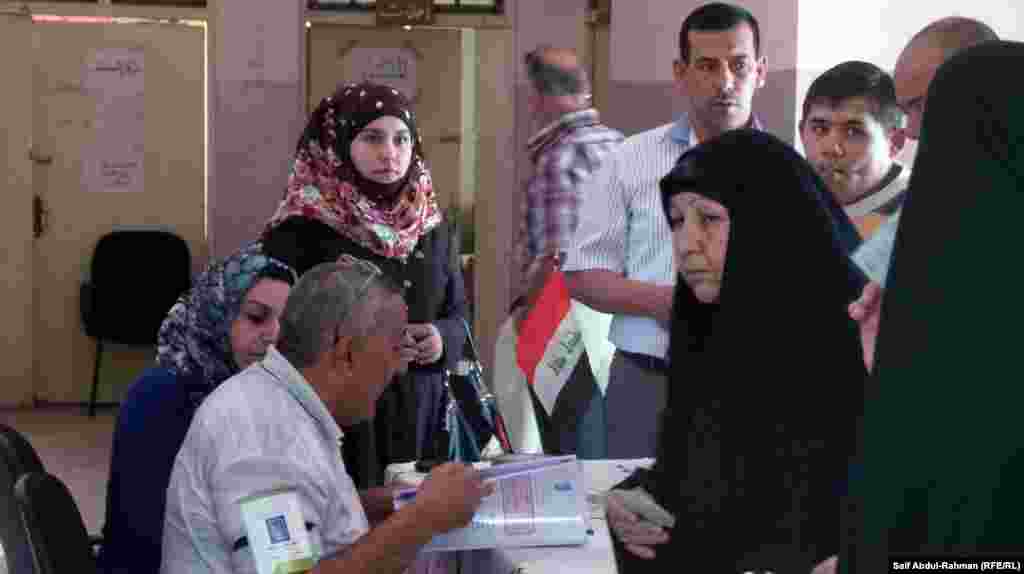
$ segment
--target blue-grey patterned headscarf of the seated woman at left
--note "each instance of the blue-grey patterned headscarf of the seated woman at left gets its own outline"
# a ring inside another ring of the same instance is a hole
[[[249,290],[266,276],[295,282],[295,272],[263,255],[261,248],[258,241],[249,244],[196,276],[160,325],[157,364],[209,389],[239,371],[231,351],[231,323]]]

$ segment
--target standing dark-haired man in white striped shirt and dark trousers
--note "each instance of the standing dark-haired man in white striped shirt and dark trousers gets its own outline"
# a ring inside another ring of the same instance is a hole
[[[676,271],[657,182],[699,141],[757,127],[752,101],[765,82],[760,28],[745,9],[700,6],[683,21],[679,38],[673,71],[690,113],[608,154],[589,183],[562,267],[574,299],[614,315],[608,338],[617,350],[605,394],[609,458],[654,455],[668,391]],[[673,366],[685,372],[685,365]]]

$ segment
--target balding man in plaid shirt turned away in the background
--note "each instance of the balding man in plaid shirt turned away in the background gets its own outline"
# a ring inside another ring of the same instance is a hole
[[[529,111],[541,129],[526,144],[535,169],[526,184],[517,242],[522,279],[517,304],[524,303],[529,285],[539,282],[530,281],[530,276],[538,278],[543,256],[555,256],[571,246],[583,186],[624,139],[601,124],[591,105],[590,82],[573,50],[541,46],[526,54],[525,63]]]

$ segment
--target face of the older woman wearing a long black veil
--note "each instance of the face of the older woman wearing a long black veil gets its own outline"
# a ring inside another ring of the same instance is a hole
[[[718,301],[729,245],[729,211],[696,193],[677,193],[670,204],[676,268],[701,303]]]

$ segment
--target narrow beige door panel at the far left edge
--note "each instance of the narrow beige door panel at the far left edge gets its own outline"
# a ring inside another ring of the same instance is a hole
[[[0,14],[0,70],[4,102],[0,143],[4,160],[4,208],[0,210],[0,406],[32,401],[32,21],[27,15]]]

